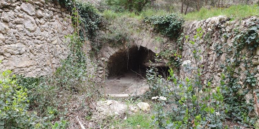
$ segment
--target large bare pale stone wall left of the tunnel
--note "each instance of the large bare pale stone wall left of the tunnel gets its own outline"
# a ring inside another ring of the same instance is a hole
[[[68,55],[69,16],[65,8],[44,0],[0,0],[0,70],[51,74]]]

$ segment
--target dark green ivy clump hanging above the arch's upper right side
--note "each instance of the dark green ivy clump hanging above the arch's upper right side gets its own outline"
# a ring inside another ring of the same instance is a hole
[[[154,26],[163,35],[177,37],[184,20],[180,15],[172,13],[164,16],[146,17],[144,22]]]

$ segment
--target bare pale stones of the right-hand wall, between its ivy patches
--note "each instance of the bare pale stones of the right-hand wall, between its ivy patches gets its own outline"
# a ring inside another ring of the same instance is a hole
[[[226,72],[224,69],[220,68],[220,65],[226,65],[227,56],[233,57],[231,54],[236,50],[236,48],[233,47],[234,42],[236,42],[235,31],[242,31],[249,28],[251,24],[258,24],[256,22],[253,23],[253,21],[258,21],[258,19],[258,17],[253,16],[244,20],[231,21],[228,17],[218,16],[208,18],[206,20],[186,23],[183,26],[184,34],[189,35],[190,38],[197,33],[197,28],[201,27],[204,31],[200,45],[198,46],[198,49],[201,50],[201,64],[204,65],[204,72],[202,75],[202,81],[204,84],[210,80],[212,82],[212,87],[220,86],[220,75],[222,72]],[[259,36],[259,32],[257,36]],[[189,42],[183,43],[182,60],[191,60],[192,66],[195,66],[195,61],[190,46],[191,43]],[[225,48],[228,48],[228,51],[225,51]],[[222,53],[218,53],[216,50],[220,50]],[[246,85],[246,68],[244,66],[247,64],[241,63],[240,65],[236,66],[233,75],[234,78],[239,79],[238,84],[241,85],[241,88],[239,89],[240,93],[245,90],[249,91],[246,94],[246,102],[250,103],[250,99],[253,101],[253,89],[258,89],[259,49],[257,47],[257,49],[250,51],[248,48],[244,47],[238,53],[240,53],[240,55],[245,55],[242,57],[243,59],[252,58],[253,63],[251,64],[251,69],[256,70],[257,68],[257,74],[254,75],[254,77],[257,79],[257,83],[253,88]],[[242,60],[242,58],[238,58],[237,60]],[[230,58],[229,60],[234,62],[233,58]],[[183,66],[181,66],[179,73],[181,78],[191,76],[188,75]],[[254,113],[254,111],[251,111],[250,115],[253,116],[255,115]]]

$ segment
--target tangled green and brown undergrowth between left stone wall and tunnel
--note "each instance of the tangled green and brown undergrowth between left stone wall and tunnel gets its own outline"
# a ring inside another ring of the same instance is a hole
[[[28,108],[38,114],[35,128],[65,128],[68,123],[66,106],[77,94],[86,94],[89,100],[98,96],[93,79],[97,65],[84,53],[83,42],[77,33],[66,38],[69,38],[70,53],[53,75],[17,77],[17,82],[27,87],[30,93]]]

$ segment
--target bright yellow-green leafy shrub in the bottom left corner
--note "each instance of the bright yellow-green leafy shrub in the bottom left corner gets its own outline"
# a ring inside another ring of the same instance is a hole
[[[0,128],[33,128],[27,89],[17,84],[12,71],[0,75]]]

